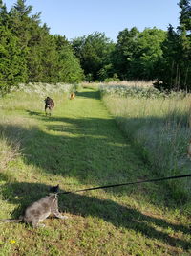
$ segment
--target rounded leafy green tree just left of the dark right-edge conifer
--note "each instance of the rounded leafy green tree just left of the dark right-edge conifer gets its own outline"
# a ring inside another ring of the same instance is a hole
[[[138,32],[134,27],[119,32],[113,58],[118,77],[122,80],[156,79],[164,38],[165,32],[157,28]]]

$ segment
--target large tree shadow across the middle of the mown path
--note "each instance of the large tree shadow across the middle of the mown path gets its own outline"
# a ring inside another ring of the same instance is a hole
[[[31,114],[31,111],[28,110],[28,113]],[[43,120],[46,132],[37,127],[0,126],[11,145],[15,138],[20,137],[23,160],[27,165],[32,164],[44,173],[63,178],[75,177],[89,187],[157,177],[151,171],[143,171],[145,167],[137,149],[124,143],[124,136],[118,132],[113,119],[46,117],[39,112],[35,115],[33,111],[32,115]],[[144,184],[140,185],[140,190],[142,188],[147,192],[146,197],[152,203],[174,208],[177,203],[174,198],[169,198],[171,188],[167,188],[166,184],[156,185],[155,201],[153,192]],[[161,194],[161,187],[167,193]],[[120,187],[113,193],[123,192],[137,194],[138,186]]]

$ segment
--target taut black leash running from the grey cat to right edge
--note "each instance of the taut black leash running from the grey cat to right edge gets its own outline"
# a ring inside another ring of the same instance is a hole
[[[175,179],[175,178],[182,178],[182,177],[188,177],[188,176],[191,176],[191,174],[190,175],[167,176],[167,177],[160,177],[160,178],[154,178],[154,179],[146,179],[146,180],[141,180],[141,181],[121,183],[121,184],[115,184],[115,185],[106,185],[106,186],[100,186],[100,187],[95,187],[95,188],[80,189],[80,190],[75,190],[75,191],[58,192],[57,194],[71,194],[71,193],[84,192],[84,191],[89,191],[89,190],[107,189],[107,188],[128,186],[128,185],[134,185],[134,184],[140,184],[140,183],[157,182],[157,181],[162,181],[162,180],[167,180],[167,179]]]

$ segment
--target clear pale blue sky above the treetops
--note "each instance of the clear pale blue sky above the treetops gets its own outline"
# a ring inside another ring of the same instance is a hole
[[[16,0],[3,0],[10,10]],[[69,40],[94,32],[105,33],[117,41],[119,31],[136,26],[166,30],[179,25],[179,0],[27,0],[33,12],[42,12],[51,34]]]

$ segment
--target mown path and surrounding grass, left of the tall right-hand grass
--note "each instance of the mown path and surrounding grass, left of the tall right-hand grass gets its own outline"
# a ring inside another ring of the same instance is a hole
[[[54,92],[46,117],[39,93],[0,100],[0,219],[17,218],[60,184],[74,191],[158,177],[130,143],[94,88]],[[190,216],[166,182],[59,196],[68,220],[45,228],[0,224],[0,255],[190,255]]]

